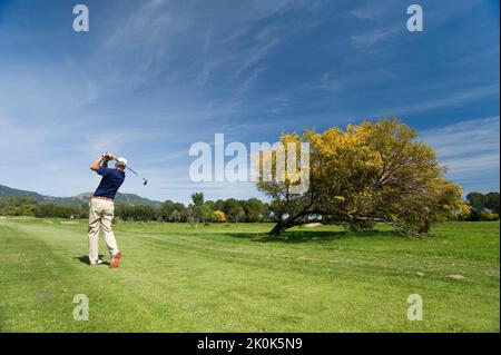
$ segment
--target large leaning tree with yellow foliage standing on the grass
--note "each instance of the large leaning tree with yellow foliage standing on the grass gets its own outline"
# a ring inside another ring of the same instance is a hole
[[[414,129],[395,119],[283,135],[285,147],[310,144],[310,166],[301,167],[310,169],[310,189],[291,194],[296,179],[288,176],[257,183],[278,218],[271,234],[305,224],[311,216],[351,230],[371,229],[381,221],[407,236],[426,234],[433,223],[460,209],[462,190],[444,178],[433,148],[416,137]],[[264,159],[259,156],[261,164]]]

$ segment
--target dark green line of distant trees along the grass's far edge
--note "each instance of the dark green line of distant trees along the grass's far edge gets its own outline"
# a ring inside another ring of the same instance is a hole
[[[453,220],[498,220],[500,216],[499,193],[470,193]],[[279,209],[278,209],[279,211]],[[273,204],[257,198],[205,200],[203,193],[191,195],[191,203],[166,200],[160,206],[116,204],[115,216],[129,221],[189,223],[194,227],[206,223],[256,223],[276,221]],[[85,219],[89,215],[87,204],[79,206],[39,204],[32,197],[0,198],[0,215],[30,216],[39,218]]]

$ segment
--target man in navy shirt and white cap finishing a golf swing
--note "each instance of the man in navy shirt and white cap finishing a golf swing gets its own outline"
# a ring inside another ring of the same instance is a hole
[[[115,169],[108,168],[108,161],[116,160]],[[90,169],[102,176],[101,183],[89,203],[89,264],[101,265],[99,259],[99,229],[102,229],[106,245],[111,256],[110,268],[118,267],[121,253],[111,228],[115,216],[115,196],[125,180],[127,159],[116,159],[111,152],[107,152],[92,162]]]

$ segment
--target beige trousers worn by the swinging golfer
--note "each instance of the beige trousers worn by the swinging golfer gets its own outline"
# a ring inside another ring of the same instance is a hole
[[[89,203],[89,260],[95,263],[99,258],[99,229],[102,229],[106,245],[111,257],[117,255],[118,246],[111,228],[115,216],[112,201],[92,198]]]

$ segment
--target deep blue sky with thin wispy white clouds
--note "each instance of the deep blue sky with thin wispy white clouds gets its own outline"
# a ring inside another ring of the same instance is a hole
[[[94,190],[110,150],[154,199],[261,197],[249,183],[195,184],[196,141],[397,117],[432,144],[465,191],[499,190],[497,0],[0,0],[0,185],[53,196]]]

